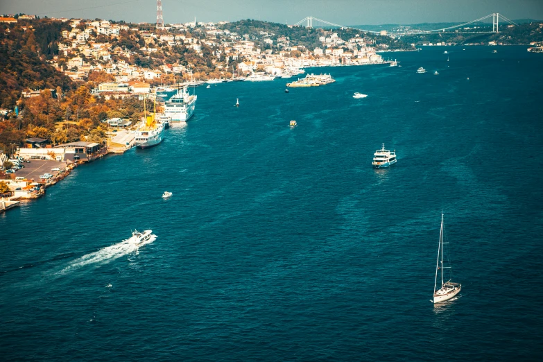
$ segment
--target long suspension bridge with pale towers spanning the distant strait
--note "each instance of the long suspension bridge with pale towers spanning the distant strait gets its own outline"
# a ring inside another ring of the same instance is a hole
[[[468,26],[470,24],[478,23],[479,21],[484,21],[486,19],[490,19],[492,17],[492,31],[469,31],[470,29],[464,29],[463,27]],[[499,21],[505,21],[508,24],[511,25],[518,25],[515,23],[515,21],[512,21],[503,15],[501,15],[499,12],[494,12],[492,14],[486,15],[484,17],[480,17],[479,19],[475,19],[472,21],[467,21],[463,24],[458,24],[454,26],[449,26],[447,28],[438,28],[434,30],[429,31],[421,31],[421,30],[415,30],[410,29],[408,31],[394,31],[390,35],[424,35],[424,34],[463,34],[463,33],[499,33]],[[316,26],[313,25],[313,22],[316,23]],[[341,24],[334,24],[330,21],[318,19],[317,17],[304,17],[304,19],[298,21],[298,23],[294,24],[294,26],[306,26],[307,28],[313,28],[313,27],[320,27],[320,28],[350,28],[350,29],[356,29],[359,31],[363,31],[365,33],[373,33],[373,34],[379,34],[381,31],[369,31],[364,30],[361,28],[355,28],[354,26],[345,26]],[[456,31],[455,31],[456,29]]]

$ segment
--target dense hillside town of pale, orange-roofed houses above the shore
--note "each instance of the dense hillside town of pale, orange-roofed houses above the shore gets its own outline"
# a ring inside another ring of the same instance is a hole
[[[261,31],[255,37],[231,32],[225,21],[154,28],[107,20],[58,20],[69,27],[62,30],[58,54],[49,63],[72,80],[86,80],[89,72],[103,71],[110,81],[94,92],[115,96],[145,94],[153,85],[243,78],[254,72],[280,77],[305,67],[381,64],[377,51],[386,49],[363,33],[343,40],[334,31],[320,31],[320,46],[308,49],[274,33]],[[32,31],[31,24],[26,31]],[[186,56],[175,56],[179,54]],[[25,95],[31,96],[32,91],[36,90],[28,89]]]

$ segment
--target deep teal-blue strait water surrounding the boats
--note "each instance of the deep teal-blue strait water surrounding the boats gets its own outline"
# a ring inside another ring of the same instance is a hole
[[[541,358],[543,58],[492,49],[197,88],[160,146],[0,215],[0,358]],[[434,306],[442,210],[463,290]]]

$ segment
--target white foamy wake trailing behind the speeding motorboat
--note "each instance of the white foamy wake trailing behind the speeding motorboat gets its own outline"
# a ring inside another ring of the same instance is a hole
[[[110,261],[123,257],[124,255],[137,252],[141,246],[153,243],[153,241],[156,239],[156,235],[151,235],[150,239],[141,243],[135,243],[134,236],[132,236],[130,239],[123,240],[121,243],[106,246],[105,248],[102,248],[96,252],[83,255],[83,257],[71,261],[68,266],[62,268],[62,270],[55,274],[66,274],[91,264],[107,264]]]

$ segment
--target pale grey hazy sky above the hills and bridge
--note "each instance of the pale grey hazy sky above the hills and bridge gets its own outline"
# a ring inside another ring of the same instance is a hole
[[[543,0],[162,0],[165,23],[261,19],[294,24],[307,16],[336,24],[469,21],[492,12],[543,19]],[[156,20],[156,0],[0,0],[0,13]]]

